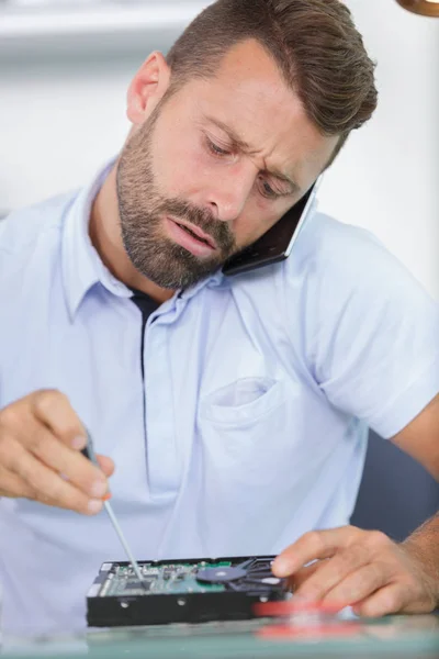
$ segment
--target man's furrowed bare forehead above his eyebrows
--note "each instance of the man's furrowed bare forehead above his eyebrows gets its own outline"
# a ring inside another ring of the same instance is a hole
[[[192,80],[188,88],[199,118],[216,116],[257,155],[302,169],[305,178],[319,174],[337,143],[319,133],[272,57],[254,40],[230,48],[214,78]]]

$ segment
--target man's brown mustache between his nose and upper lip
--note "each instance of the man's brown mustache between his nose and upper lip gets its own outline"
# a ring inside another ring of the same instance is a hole
[[[191,222],[194,226],[209,234],[223,249],[230,250],[235,247],[235,237],[227,223],[215,220],[207,209],[199,209],[180,199],[169,199],[160,204],[158,212]]]

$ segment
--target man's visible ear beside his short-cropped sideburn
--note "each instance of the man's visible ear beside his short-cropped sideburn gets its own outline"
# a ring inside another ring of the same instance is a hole
[[[134,76],[127,93],[126,114],[140,124],[153,112],[169,87],[170,68],[159,52],[154,52]]]

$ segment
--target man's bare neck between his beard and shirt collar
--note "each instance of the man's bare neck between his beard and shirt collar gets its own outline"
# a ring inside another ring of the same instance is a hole
[[[160,288],[135,269],[125,252],[116,194],[115,164],[98,192],[90,213],[90,239],[104,266],[120,281],[136,288],[156,302],[165,302],[173,291]]]

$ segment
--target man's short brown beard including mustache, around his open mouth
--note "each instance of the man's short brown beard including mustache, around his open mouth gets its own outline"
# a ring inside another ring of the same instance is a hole
[[[157,286],[177,290],[210,277],[237,248],[228,225],[215,220],[207,209],[160,193],[154,176],[151,139],[162,104],[164,100],[123,148],[116,191],[122,241],[133,266]],[[201,258],[173,243],[164,231],[168,215],[191,222],[209,234],[216,244],[214,254]]]

